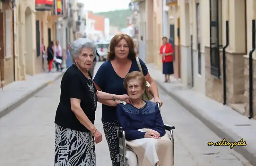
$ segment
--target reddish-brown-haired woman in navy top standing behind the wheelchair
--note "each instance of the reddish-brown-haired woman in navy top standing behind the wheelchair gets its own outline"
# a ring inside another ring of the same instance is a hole
[[[127,94],[124,88],[124,78],[132,71],[140,71],[136,61],[134,42],[127,34],[117,34],[110,41],[108,61],[104,62],[94,77],[97,90],[111,94]],[[154,102],[162,101],[159,98],[156,83],[148,73],[145,63],[139,59],[143,74],[151,84],[150,93],[154,96]],[[116,106],[118,101],[101,101],[102,103],[102,123],[104,133],[108,142],[110,157],[113,166],[120,166],[117,160],[118,146],[115,126],[118,126]]]

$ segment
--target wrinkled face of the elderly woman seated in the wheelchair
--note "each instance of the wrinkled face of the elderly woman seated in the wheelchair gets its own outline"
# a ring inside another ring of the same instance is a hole
[[[143,92],[144,89],[142,89],[140,81],[137,78],[127,82],[127,93],[131,100],[141,99]]]

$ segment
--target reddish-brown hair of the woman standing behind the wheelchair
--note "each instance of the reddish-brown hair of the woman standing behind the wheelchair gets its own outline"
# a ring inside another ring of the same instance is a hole
[[[115,46],[120,42],[120,40],[126,40],[128,47],[129,47],[129,54],[128,58],[130,60],[134,60],[136,58],[136,52],[134,50],[135,45],[132,40],[132,38],[127,35],[127,34],[116,34],[110,41],[110,46],[108,50],[108,60],[114,60],[116,55],[115,55]]]

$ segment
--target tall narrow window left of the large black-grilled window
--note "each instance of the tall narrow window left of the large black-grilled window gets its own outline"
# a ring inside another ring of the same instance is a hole
[[[197,37],[197,51],[198,51],[198,74],[202,74],[201,65],[201,30],[200,30],[200,4],[196,4],[196,37]]]

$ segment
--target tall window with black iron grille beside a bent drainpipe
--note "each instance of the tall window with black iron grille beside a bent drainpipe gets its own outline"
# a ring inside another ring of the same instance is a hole
[[[217,78],[220,78],[219,29],[219,2],[210,0],[210,64],[211,74]]]

